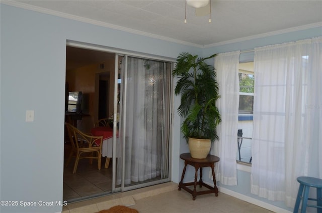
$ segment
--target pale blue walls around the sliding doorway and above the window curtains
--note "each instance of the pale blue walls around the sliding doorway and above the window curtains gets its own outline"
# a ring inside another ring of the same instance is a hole
[[[320,29],[311,29],[200,49],[8,5],[0,7],[0,199],[19,202],[62,200],[67,40],[175,59],[181,52],[208,56],[321,35]],[[171,161],[174,182],[179,182],[184,165],[179,154],[188,152],[176,113],[179,102],[175,96]],[[34,122],[25,122],[26,110],[35,111]],[[194,169],[187,169],[186,176],[193,177]],[[204,176],[211,182],[208,175]],[[249,179],[248,174],[238,176],[238,183]],[[249,194],[244,187],[230,189]],[[1,212],[61,210],[57,205],[23,207],[20,203],[0,207]]]

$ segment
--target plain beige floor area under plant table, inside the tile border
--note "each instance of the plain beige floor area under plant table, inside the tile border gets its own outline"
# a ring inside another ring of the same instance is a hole
[[[192,195],[181,190],[174,190],[155,196],[146,197],[135,201],[136,204],[129,206],[137,209],[140,213],[268,213],[265,208],[249,202],[220,193],[198,195],[192,200]]]

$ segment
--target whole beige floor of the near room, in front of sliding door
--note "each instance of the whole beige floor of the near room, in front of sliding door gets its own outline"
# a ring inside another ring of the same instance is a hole
[[[168,182],[126,191],[118,194],[75,202],[64,206],[62,213],[95,213],[114,205],[126,205],[137,209],[139,213],[269,213],[268,209],[237,199],[219,192],[192,195],[185,190],[178,190],[178,184]]]

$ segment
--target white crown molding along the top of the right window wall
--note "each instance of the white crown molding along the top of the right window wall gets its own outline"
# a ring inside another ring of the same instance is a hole
[[[221,46],[221,45],[227,45],[227,44],[232,44],[232,43],[237,43],[237,42],[244,42],[244,41],[249,41],[249,40],[253,40],[253,39],[260,39],[260,38],[264,38],[264,37],[276,36],[276,35],[285,34],[285,33],[292,33],[295,31],[307,30],[310,28],[317,28],[317,27],[322,27],[322,22],[317,22],[317,23],[308,24],[308,25],[302,25],[302,26],[298,26],[298,27],[294,27],[294,28],[287,28],[287,29],[283,29],[283,30],[279,30],[279,31],[272,31],[269,33],[263,33],[263,34],[258,34],[258,35],[254,35],[254,36],[248,36],[248,37],[243,37],[243,38],[239,38],[239,39],[228,40],[228,41],[224,41],[224,42],[218,42],[218,43],[214,43],[214,44],[210,44],[210,45],[204,45],[203,48],[217,47],[217,46]]]

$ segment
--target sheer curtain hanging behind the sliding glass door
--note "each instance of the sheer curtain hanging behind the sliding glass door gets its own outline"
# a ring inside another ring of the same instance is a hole
[[[121,114],[126,114],[126,120],[119,137],[120,141],[125,138],[124,183],[130,184],[156,177],[162,169],[164,65],[133,57],[128,57],[127,64],[126,80],[122,76],[126,89],[121,91],[121,100],[126,100],[121,102]],[[120,184],[121,169],[117,175]]]

